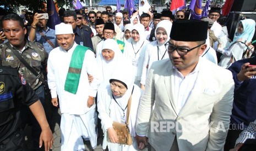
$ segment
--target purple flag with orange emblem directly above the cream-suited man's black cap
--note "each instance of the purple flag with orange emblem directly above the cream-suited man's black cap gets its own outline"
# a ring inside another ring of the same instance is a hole
[[[202,4],[201,0],[192,0],[190,2],[189,8],[192,10],[192,18],[196,20],[201,19],[201,13],[202,13]]]

